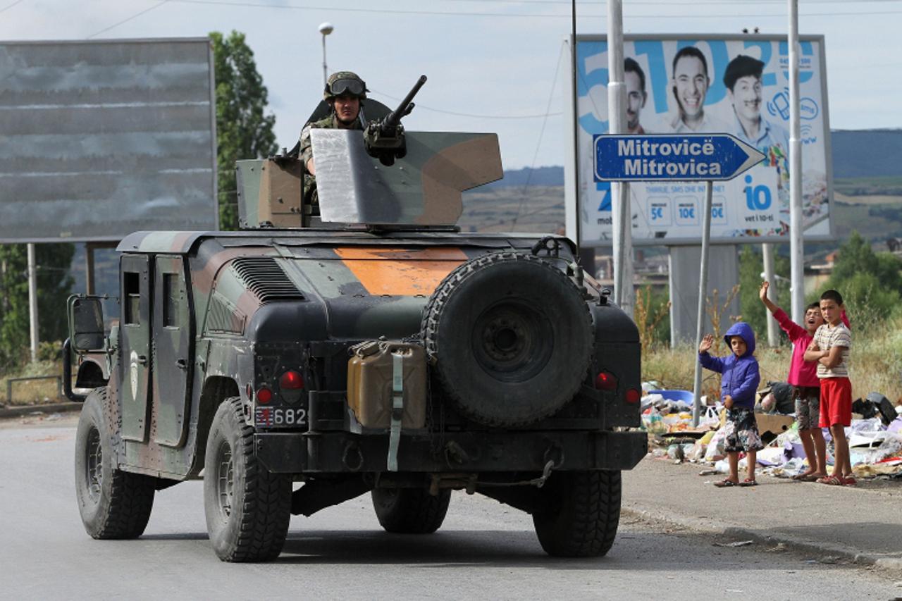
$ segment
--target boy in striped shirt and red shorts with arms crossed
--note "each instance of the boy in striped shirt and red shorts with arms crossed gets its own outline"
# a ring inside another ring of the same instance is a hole
[[[851,476],[849,441],[845,427],[851,424],[851,382],[849,381],[849,347],[851,332],[842,323],[842,295],[828,290],[821,295],[821,314],[826,322],[817,328],[805,361],[817,362],[821,382],[820,425],[830,428],[833,436],[833,474],[817,481],[826,485],[855,485]]]

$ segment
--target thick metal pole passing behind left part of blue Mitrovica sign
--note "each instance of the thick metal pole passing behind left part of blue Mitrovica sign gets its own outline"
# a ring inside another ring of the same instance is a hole
[[[624,134],[626,85],[623,83],[623,9],[621,0],[608,1],[608,133]],[[630,184],[611,183],[614,251],[614,301],[632,317],[632,219]]]

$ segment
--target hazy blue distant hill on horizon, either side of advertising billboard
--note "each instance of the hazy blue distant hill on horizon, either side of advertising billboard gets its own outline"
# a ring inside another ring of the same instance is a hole
[[[834,129],[833,178],[902,176],[902,129]],[[524,167],[504,171],[504,179],[485,187],[563,186],[564,168]]]

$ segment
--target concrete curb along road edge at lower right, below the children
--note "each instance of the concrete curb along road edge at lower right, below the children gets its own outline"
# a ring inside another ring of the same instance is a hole
[[[690,532],[721,535],[725,538],[744,539],[772,546],[782,544],[787,549],[815,555],[821,558],[824,563],[828,563],[826,559],[848,561],[861,566],[872,566],[875,569],[886,572],[889,576],[902,576],[902,559],[898,558],[874,556],[840,545],[799,539],[782,532],[762,532],[726,522],[718,522],[708,517],[663,513],[658,509],[649,509],[640,505],[622,507],[621,513],[644,521],[666,523],[671,526],[684,528]]]

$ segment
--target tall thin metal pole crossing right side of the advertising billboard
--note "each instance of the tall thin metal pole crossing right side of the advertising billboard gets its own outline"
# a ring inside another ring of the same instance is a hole
[[[789,2],[789,254],[792,319],[805,318],[805,244],[802,237],[802,125],[798,97],[798,0]]]

